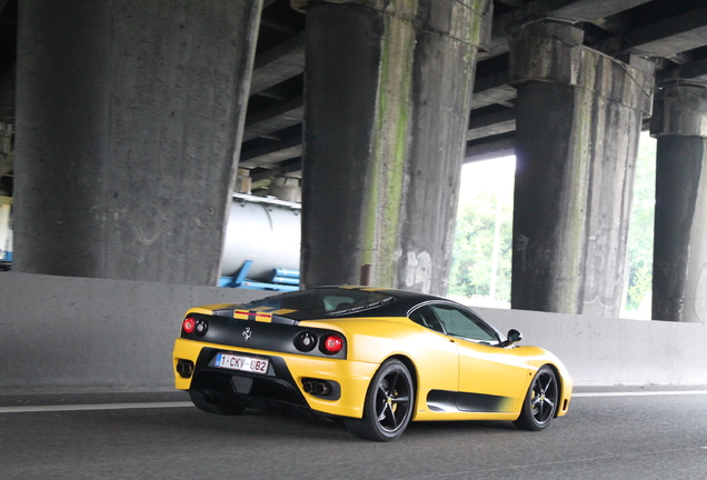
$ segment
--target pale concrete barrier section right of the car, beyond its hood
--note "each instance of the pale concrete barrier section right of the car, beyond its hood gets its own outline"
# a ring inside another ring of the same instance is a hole
[[[707,326],[527,310],[474,310],[555,353],[576,384],[707,384]]]

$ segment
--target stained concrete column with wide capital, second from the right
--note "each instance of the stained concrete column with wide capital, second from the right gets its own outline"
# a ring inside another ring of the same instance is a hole
[[[653,63],[528,24],[511,40],[518,89],[511,306],[618,317],[641,117]]]

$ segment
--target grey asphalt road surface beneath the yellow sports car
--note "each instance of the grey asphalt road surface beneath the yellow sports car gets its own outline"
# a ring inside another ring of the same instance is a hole
[[[0,396],[0,479],[707,478],[707,387],[578,390],[542,432],[412,423],[392,443],[333,422],[211,416],[176,393]]]

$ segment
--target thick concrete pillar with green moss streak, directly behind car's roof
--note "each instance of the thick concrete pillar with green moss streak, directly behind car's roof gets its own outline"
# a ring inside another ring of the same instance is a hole
[[[445,293],[488,0],[307,7],[302,277]]]

